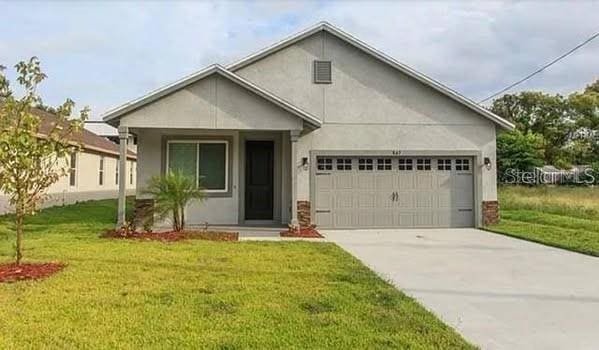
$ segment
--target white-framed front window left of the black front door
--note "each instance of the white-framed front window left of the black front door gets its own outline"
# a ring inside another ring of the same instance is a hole
[[[227,192],[228,148],[227,141],[170,141],[168,170],[193,178],[206,192]]]

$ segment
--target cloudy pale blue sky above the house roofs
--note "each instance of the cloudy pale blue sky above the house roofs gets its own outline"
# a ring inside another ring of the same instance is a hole
[[[37,56],[39,92],[92,119],[326,20],[479,101],[599,32],[599,1],[7,1],[0,65]],[[569,94],[599,79],[599,39],[509,92]]]

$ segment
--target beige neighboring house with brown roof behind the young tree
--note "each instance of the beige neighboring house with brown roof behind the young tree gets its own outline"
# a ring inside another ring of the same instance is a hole
[[[48,131],[56,119],[48,112],[34,110],[33,113],[42,118],[41,132]],[[82,130],[74,137],[83,145],[80,152],[73,154],[66,161],[70,165],[70,173],[62,177],[48,190],[49,198],[44,207],[72,204],[94,199],[118,197],[119,147],[104,137],[89,130]],[[134,195],[136,187],[136,155],[129,151],[127,154],[127,194]],[[0,193],[0,214],[11,212],[8,199]]]

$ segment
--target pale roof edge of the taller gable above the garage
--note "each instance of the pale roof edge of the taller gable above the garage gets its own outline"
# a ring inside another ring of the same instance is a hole
[[[440,93],[444,94],[445,96],[461,103],[462,105],[468,107],[469,109],[482,115],[483,117],[492,120],[496,124],[506,128],[506,129],[514,129],[515,125],[513,123],[511,123],[510,121],[508,121],[504,118],[501,118],[500,116],[496,115],[495,113],[492,113],[491,111],[487,110],[485,107],[483,107],[483,106],[479,105],[478,103],[472,101],[471,99],[461,95],[457,91],[454,91],[451,88],[443,85],[442,83],[414,70],[413,68],[408,67],[407,65],[405,65],[401,62],[398,62],[394,58],[387,56],[383,52],[375,49],[374,47],[364,43],[363,41],[357,39],[356,37],[352,36],[351,34],[348,34],[344,31],[342,31],[341,29],[333,26],[332,24],[330,24],[328,22],[320,22],[308,29],[305,29],[299,33],[296,33],[296,34],[286,38],[286,39],[283,39],[283,40],[281,40],[269,47],[266,47],[250,56],[247,56],[237,62],[234,62],[234,63],[228,65],[227,69],[232,72],[235,72],[236,70],[239,70],[257,60],[262,59],[263,57],[266,57],[266,56],[273,54],[279,50],[282,50],[290,45],[293,45],[294,43],[296,43],[302,39],[305,39],[313,34],[321,32],[321,31],[325,31],[325,32],[341,39],[342,41],[362,50],[363,52],[390,65],[391,67],[399,70],[400,72],[420,81],[421,83],[423,83],[425,85],[430,86],[431,88],[433,88],[433,89],[439,91]]]

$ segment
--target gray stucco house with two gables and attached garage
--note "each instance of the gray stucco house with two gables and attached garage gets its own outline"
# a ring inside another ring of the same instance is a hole
[[[104,120],[138,138],[140,217],[153,201],[139,188],[180,169],[208,194],[190,224],[328,228],[496,221],[495,135],[513,128],[328,23]]]

